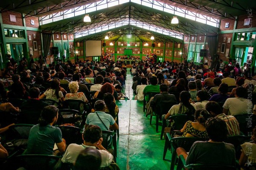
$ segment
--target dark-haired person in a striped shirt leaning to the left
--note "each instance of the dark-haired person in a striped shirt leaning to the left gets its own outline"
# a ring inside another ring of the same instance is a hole
[[[222,113],[221,106],[217,102],[208,102],[205,109],[214,117],[218,117],[226,122],[228,135],[240,135],[239,122],[234,116],[227,116]]]

